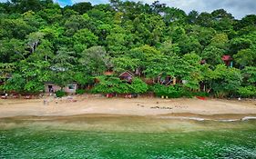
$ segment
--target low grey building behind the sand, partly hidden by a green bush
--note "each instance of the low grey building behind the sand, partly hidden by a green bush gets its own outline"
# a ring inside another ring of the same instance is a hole
[[[45,92],[46,93],[54,93],[58,90],[61,90],[60,86],[58,86],[54,83],[51,83],[51,82],[45,83]],[[67,86],[65,86],[63,88],[63,91],[68,93],[68,94],[75,94],[76,90],[77,90],[77,84],[76,83],[67,84]]]

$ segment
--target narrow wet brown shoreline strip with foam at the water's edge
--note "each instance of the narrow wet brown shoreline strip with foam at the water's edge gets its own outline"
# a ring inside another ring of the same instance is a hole
[[[87,118],[150,118],[179,121],[212,121],[212,122],[239,122],[256,120],[256,114],[158,114],[158,115],[128,115],[128,114],[76,114],[76,115],[55,115],[55,116],[9,116],[1,117],[3,120],[22,121],[82,121]]]

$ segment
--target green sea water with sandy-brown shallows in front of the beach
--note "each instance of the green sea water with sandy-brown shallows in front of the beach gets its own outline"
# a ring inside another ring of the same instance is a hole
[[[0,120],[0,158],[256,158],[256,121],[89,116]]]

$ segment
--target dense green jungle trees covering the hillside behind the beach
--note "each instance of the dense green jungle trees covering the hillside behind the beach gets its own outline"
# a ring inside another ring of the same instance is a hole
[[[104,75],[109,70],[114,75]],[[131,84],[118,78],[125,70],[138,73]],[[52,0],[11,0],[0,3],[0,73],[3,92],[38,93],[51,81],[94,84],[95,93],[253,97],[256,15],[237,20],[223,9],[187,15],[159,1],[62,8]],[[159,75],[183,83],[145,83]]]

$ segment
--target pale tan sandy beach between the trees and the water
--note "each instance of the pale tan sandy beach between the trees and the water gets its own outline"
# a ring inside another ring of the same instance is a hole
[[[44,100],[47,104],[44,104]],[[17,116],[70,116],[70,115],[139,115],[139,116],[208,116],[210,118],[242,118],[256,116],[256,101],[225,99],[179,98],[106,98],[73,96],[54,99],[1,99],[0,118]]]

